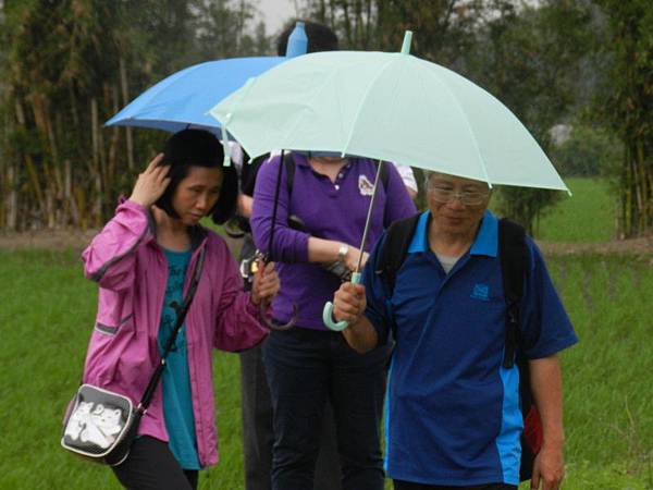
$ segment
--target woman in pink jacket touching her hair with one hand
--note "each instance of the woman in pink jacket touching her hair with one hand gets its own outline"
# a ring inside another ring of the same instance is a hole
[[[273,264],[245,293],[225,242],[199,224],[206,216],[223,223],[234,211],[236,175],[222,161],[222,145],[210,133],[174,134],[83,253],[85,275],[100,286],[84,382],[135,404],[172,333],[189,277],[202,264],[139,437],[112,468],[127,488],[197,487],[198,470],[218,461],[211,351],[249,348],[268,334],[258,305],[279,291]]]

